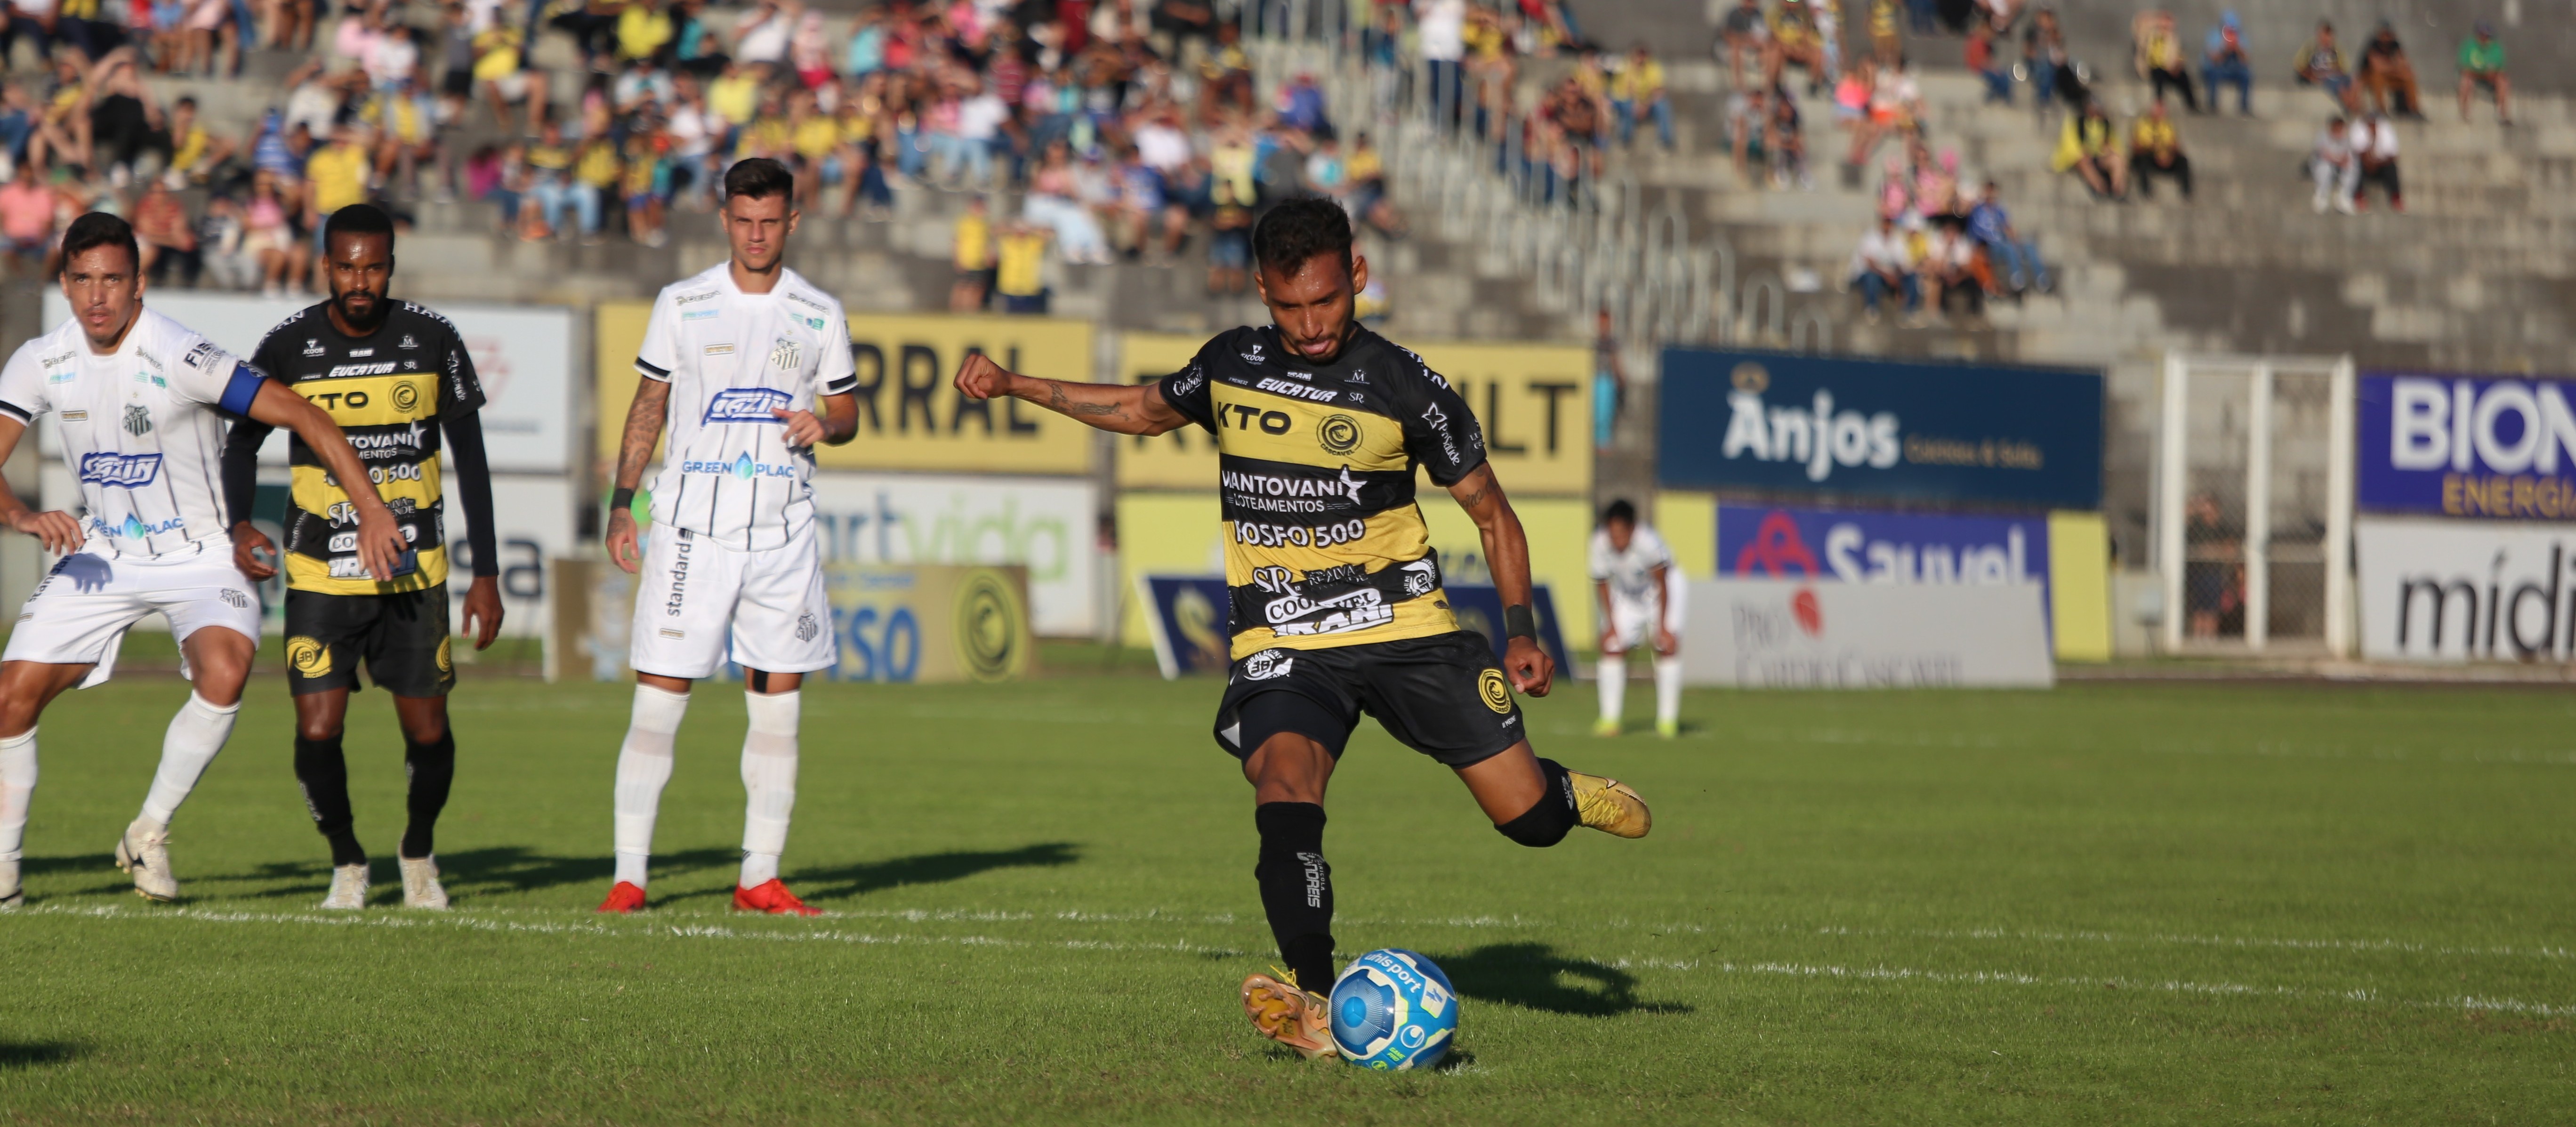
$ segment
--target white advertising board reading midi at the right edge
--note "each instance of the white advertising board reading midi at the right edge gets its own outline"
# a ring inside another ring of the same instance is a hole
[[[2365,659],[2576,659],[2576,530],[2360,517],[2352,540]]]

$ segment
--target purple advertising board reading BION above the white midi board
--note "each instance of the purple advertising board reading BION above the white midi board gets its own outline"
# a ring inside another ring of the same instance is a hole
[[[2576,520],[2576,381],[2362,373],[2367,512]]]

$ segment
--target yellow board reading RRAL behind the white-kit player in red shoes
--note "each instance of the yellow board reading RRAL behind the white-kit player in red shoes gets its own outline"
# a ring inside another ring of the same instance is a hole
[[[634,404],[647,301],[598,306],[600,458],[618,450]],[[1092,324],[1048,316],[850,314],[858,437],[814,450],[822,468],[1090,473],[1092,430],[1018,399],[974,401],[948,383],[969,353],[1059,381],[1092,378]],[[1213,476],[1211,476],[1213,481]]]

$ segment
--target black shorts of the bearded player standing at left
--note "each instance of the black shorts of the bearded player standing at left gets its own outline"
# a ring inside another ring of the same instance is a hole
[[[358,690],[366,679],[397,697],[446,697],[456,687],[448,651],[448,589],[399,594],[286,592],[286,687],[294,695]]]

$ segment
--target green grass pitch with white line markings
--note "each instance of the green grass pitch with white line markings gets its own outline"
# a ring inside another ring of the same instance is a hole
[[[786,875],[814,921],[724,911],[737,687],[680,736],[657,911],[603,921],[629,692],[500,677],[456,697],[459,911],[392,906],[379,692],[350,733],[376,906],[312,908],[276,677],[175,826],[188,901],[137,901],[108,849],[180,692],[129,674],[44,723],[0,1122],[2576,1117],[2566,692],[1692,692],[1667,744],[1592,738],[1564,684],[1540,751],[1636,782],[1656,829],[1543,852],[1368,726],[1337,931],[1466,996],[1419,1076],[1236,1011],[1273,952],[1213,682],[809,690]]]

